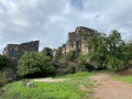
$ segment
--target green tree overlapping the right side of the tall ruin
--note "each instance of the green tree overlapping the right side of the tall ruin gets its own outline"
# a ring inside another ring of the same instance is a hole
[[[89,54],[88,58],[92,63],[98,64],[99,66],[106,66],[107,57],[107,45],[106,45],[106,34],[98,33],[90,36],[88,40]]]

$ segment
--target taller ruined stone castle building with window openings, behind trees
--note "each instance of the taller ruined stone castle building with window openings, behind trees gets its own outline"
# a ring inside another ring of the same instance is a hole
[[[77,51],[77,53],[88,53],[88,38],[94,34],[96,34],[95,30],[84,26],[76,28],[75,32],[68,33],[68,41],[62,46],[62,53],[66,55],[72,50]]]

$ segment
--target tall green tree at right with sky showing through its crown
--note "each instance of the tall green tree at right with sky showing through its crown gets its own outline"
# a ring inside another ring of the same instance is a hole
[[[127,61],[124,55],[127,53],[127,46],[118,31],[113,30],[107,37],[107,48],[109,52],[107,57],[108,66],[114,66],[119,70]]]

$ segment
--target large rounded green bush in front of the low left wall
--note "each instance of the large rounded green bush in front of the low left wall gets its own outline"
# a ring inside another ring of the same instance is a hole
[[[18,74],[21,76],[40,74],[50,74],[54,70],[48,56],[41,53],[24,53],[19,61]]]

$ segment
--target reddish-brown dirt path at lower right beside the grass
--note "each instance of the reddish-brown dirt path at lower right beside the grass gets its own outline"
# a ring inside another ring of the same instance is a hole
[[[95,88],[94,99],[132,99],[132,84],[112,79],[110,73],[91,76],[99,86]]]

